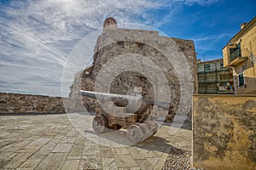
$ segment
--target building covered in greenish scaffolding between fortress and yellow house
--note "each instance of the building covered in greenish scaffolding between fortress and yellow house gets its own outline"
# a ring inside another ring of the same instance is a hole
[[[232,70],[225,68],[223,59],[197,63],[199,94],[234,94]]]

